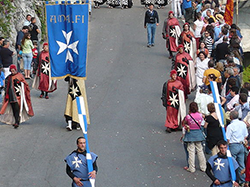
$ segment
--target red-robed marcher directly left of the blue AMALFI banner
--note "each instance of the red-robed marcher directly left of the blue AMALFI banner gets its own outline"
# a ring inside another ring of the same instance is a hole
[[[48,43],[43,44],[43,51],[39,56],[38,69],[32,87],[41,90],[40,98],[45,95],[45,99],[49,99],[49,92],[57,89],[57,81],[51,79]]]

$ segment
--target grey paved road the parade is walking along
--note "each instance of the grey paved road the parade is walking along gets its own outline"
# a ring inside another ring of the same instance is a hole
[[[87,94],[89,141],[99,155],[98,187],[209,186],[197,169],[188,173],[180,132],[165,133],[162,84],[171,62],[161,38],[159,10],[156,46],[146,47],[144,8],[93,10]],[[63,118],[67,84],[49,100],[31,91],[35,117],[15,130],[0,125],[0,187],[67,187],[63,159],[75,149],[80,131],[67,132]]]

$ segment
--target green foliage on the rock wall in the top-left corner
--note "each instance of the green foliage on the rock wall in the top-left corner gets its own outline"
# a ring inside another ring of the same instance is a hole
[[[12,4],[13,0],[1,0],[0,1],[0,31],[3,37],[10,36],[10,23],[12,18],[12,12],[15,11],[15,7]]]

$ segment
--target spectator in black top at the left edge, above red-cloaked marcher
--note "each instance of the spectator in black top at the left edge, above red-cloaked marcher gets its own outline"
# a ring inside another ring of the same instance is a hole
[[[11,51],[9,47],[10,47],[10,42],[8,40],[4,40],[3,47],[0,50],[0,56],[3,63],[5,78],[10,74],[9,67],[12,64],[12,56],[14,54],[14,52]]]

